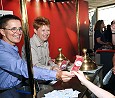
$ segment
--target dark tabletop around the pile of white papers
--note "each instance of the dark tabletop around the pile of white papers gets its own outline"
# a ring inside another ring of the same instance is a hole
[[[95,73],[86,73],[85,75],[90,75],[89,79],[91,82],[94,82],[96,76],[99,76],[100,72],[102,70],[102,67],[100,67]],[[101,82],[101,81],[99,81]],[[52,90],[62,90],[62,89],[67,89],[67,88],[72,88],[73,90],[78,90],[81,93],[78,95],[78,98],[83,98],[85,95],[87,98],[90,98],[91,93],[89,90],[83,86],[80,81],[78,80],[77,77],[72,78],[68,82],[62,82],[62,81],[57,81],[54,85],[50,85],[50,89],[44,91],[44,92],[39,92],[37,98],[42,98],[44,93],[48,93],[49,91]]]

